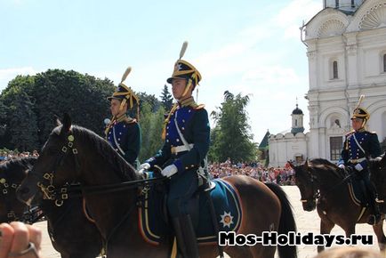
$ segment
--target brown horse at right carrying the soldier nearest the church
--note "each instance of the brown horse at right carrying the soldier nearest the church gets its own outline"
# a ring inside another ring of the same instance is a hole
[[[362,214],[362,207],[352,201],[348,183],[336,165],[323,158],[311,159],[304,165],[289,164],[301,191],[303,209],[312,211],[317,207],[320,234],[329,234],[337,224],[345,231],[346,237],[350,237],[355,234],[357,223],[367,222],[371,213],[366,209]],[[386,243],[382,225],[383,220],[373,226],[381,249]],[[323,249],[324,246],[318,246],[318,252]]]

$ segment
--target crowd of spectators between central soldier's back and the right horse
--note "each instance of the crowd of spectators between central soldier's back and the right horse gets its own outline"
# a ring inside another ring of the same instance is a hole
[[[212,178],[244,174],[263,182],[275,182],[279,185],[294,185],[294,170],[289,165],[284,167],[264,167],[260,163],[233,164],[230,159],[224,163],[212,163],[208,166]]]

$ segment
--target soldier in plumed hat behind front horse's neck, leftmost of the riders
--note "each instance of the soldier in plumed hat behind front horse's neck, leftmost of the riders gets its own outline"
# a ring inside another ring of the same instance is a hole
[[[141,128],[135,118],[127,116],[127,110],[137,104],[137,118],[139,99],[133,91],[124,84],[131,69],[128,68],[122,77],[117,91],[108,98],[112,119],[106,126],[106,140],[125,158],[127,163],[136,167],[137,157],[141,149]]]

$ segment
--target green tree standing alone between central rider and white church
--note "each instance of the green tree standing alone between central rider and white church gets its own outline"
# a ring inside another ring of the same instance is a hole
[[[215,135],[210,154],[213,161],[225,161],[228,157],[232,162],[248,162],[256,159],[256,144],[248,125],[245,110],[249,103],[249,96],[236,96],[229,91],[224,93],[221,108],[212,112],[216,121],[213,129]],[[212,133],[212,134],[213,134]]]

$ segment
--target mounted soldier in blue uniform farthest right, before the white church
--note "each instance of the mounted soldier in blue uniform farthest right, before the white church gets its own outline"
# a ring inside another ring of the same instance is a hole
[[[366,109],[359,107],[362,99],[363,96],[360,97],[358,106],[354,109],[351,117],[353,130],[346,134],[338,166],[343,169],[349,166],[351,171],[357,172],[359,178],[365,181],[369,206],[373,212],[368,223],[374,225],[380,221],[381,213],[376,202],[374,185],[370,181],[366,157],[378,157],[382,154],[382,151],[377,134],[368,132],[365,129],[370,114]]]

